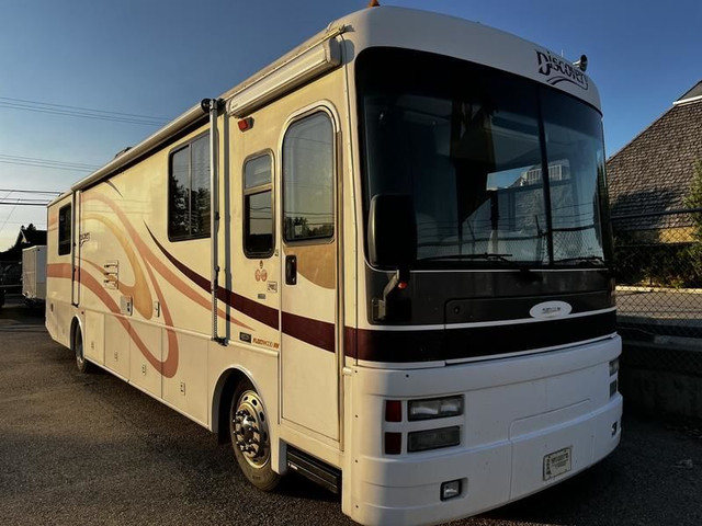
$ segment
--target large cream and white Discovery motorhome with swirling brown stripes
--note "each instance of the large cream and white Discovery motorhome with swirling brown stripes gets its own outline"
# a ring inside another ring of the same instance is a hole
[[[616,447],[607,206],[581,69],[366,9],[54,201],[46,324],[263,490],[292,469],[362,524],[449,521]]]

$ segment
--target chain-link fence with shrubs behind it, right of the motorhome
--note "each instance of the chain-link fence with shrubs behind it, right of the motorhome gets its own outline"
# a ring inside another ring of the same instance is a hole
[[[701,226],[698,208],[612,217],[619,332],[667,350],[665,361],[650,348],[657,359],[636,353],[627,362],[702,376],[702,353],[684,352],[702,351]]]

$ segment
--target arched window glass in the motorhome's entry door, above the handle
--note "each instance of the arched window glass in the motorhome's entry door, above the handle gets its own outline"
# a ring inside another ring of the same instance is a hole
[[[293,123],[283,139],[286,241],[333,236],[333,128],[326,113]]]

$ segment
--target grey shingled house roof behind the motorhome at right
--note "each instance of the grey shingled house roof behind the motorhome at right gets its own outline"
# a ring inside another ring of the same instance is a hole
[[[698,93],[699,92],[699,93]],[[702,81],[607,161],[612,216],[684,208],[693,163],[702,159]],[[687,215],[618,220],[627,229],[688,226]],[[615,225],[616,227],[618,225]]]

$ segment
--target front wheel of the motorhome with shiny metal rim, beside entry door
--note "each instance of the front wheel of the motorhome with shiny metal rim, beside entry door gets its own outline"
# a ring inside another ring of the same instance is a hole
[[[263,401],[249,380],[240,381],[229,407],[229,435],[239,468],[263,491],[273,490],[280,474],[271,467],[271,436]]]

